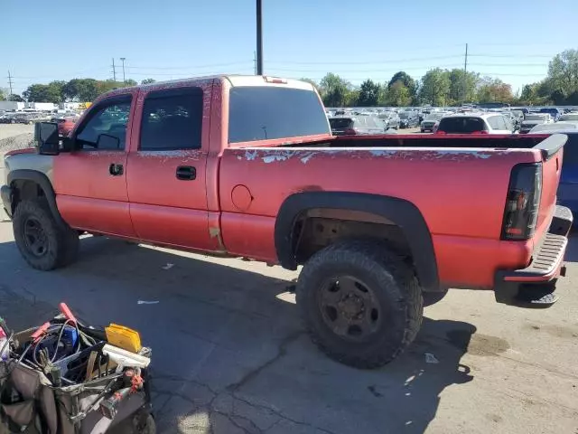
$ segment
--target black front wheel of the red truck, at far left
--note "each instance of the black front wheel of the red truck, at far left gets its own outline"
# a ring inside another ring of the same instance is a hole
[[[65,267],[78,256],[78,232],[59,225],[42,200],[24,200],[16,205],[13,230],[18,250],[33,269]]]

